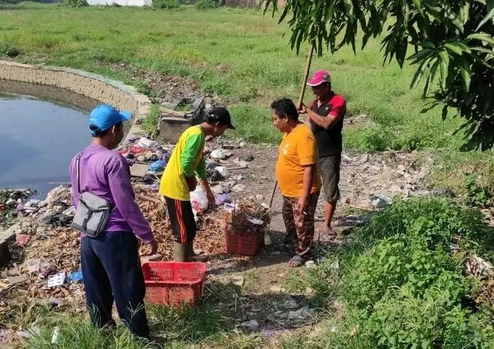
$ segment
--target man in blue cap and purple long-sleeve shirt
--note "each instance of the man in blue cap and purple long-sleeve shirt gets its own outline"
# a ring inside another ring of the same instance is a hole
[[[80,260],[91,322],[97,327],[115,326],[115,300],[119,317],[130,331],[149,337],[137,239],[150,246],[149,255],[156,254],[158,245],[134,201],[127,160],[113,151],[124,139],[124,121],[131,117],[130,112],[118,112],[107,104],[94,108],[89,115],[93,142],[74,156],[70,173],[75,207],[84,192],[107,200],[113,207],[101,234],[81,234]]]

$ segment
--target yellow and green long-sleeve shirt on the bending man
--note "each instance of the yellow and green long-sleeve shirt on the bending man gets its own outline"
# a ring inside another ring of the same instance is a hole
[[[189,186],[185,177],[206,178],[204,141],[206,136],[200,126],[191,126],[178,139],[165,172],[161,177],[159,193],[175,200],[189,201]]]

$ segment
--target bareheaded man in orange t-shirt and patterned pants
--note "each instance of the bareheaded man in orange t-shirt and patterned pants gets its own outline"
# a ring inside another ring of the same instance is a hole
[[[283,132],[276,165],[276,177],[283,194],[283,220],[288,237],[296,237],[295,256],[288,264],[302,265],[314,238],[314,213],[320,191],[317,145],[314,134],[298,121],[291,99],[271,104],[273,125]]]

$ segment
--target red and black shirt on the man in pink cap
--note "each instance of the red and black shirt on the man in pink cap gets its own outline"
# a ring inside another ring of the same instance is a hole
[[[336,123],[333,123],[328,130],[316,125],[316,123],[311,123],[312,132],[316,136],[319,157],[340,155],[343,149],[342,130],[343,117],[346,113],[345,99],[341,95],[333,93],[327,101],[322,101],[320,106],[318,106],[318,99],[311,101],[309,108],[321,117],[328,115],[336,117]]]

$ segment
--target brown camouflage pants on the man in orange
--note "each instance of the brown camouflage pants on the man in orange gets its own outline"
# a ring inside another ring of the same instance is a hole
[[[288,237],[296,237],[296,254],[303,256],[310,252],[314,239],[314,213],[316,213],[319,192],[311,194],[309,205],[303,212],[298,212],[298,197],[283,196],[283,221]]]

